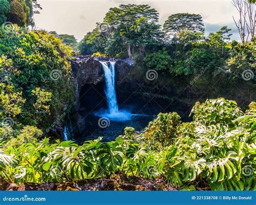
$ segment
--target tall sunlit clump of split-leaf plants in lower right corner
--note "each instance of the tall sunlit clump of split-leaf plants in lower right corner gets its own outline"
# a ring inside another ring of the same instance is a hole
[[[255,112],[248,112],[255,117]],[[181,132],[176,142],[176,157],[181,161],[167,173],[167,179],[179,186],[186,182],[207,181],[213,190],[252,189],[255,186],[255,165],[252,163],[255,155],[251,155],[250,150],[255,146],[255,139],[252,140],[255,128],[245,120],[237,123],[248,114],[244,114],[234,101],[224,98],[197,103],[192,113],[191,134]],[[248,166],[249,175],[244,173]]]

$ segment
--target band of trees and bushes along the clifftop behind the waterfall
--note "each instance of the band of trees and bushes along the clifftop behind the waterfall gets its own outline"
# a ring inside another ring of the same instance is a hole
[[[230,41],[232,34],[227,26],[206,37],[200,15],[171,15],[163,30],[158,18],[158,12],[149,5],[112,8],[104,22],[79,43],[79,52],[132,58],[166,75],[191,75],[207,68],[207,73],[229,73],[235,80],[241,78],[244,69],[255,72],[254,34],[251,41],[240,44]]]

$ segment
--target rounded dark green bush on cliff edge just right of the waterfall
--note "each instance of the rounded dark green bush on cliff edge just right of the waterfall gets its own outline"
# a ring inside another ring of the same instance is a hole
[[[155,70],[169,70],[172,66],[171,56],[165,50],[147,54],[143,61],[148,68]]]

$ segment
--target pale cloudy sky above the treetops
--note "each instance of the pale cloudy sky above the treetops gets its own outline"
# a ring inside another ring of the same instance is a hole
[[[238,12],[231,0],[38,0],[43,10],[34,16],[36,27],[58,34],[74,35],[80,41],[92,31],[97,22],[103,22],[105,13],[119,4],[149,4],[159,12],[159,23],[173,13],[197,13],[203,17],[206,34],[216,32],[222,26],[232,29],[232,39],[239,40],[233,22]]]

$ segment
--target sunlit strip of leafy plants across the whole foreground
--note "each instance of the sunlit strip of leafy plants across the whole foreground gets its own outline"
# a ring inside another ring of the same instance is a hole
[[[161,175],[181,189],[255,189],[256,103],[246,113],[224,98],[197,103],[193,121],[159,114],[145,132],[126,128],[124,136],[78,146],[31,140],[42,131],[27,126],[0,150],[0,174],[10,182],[76,181],[123,172],[149,179]],[[190,187],[190,188],[189,188]]]

